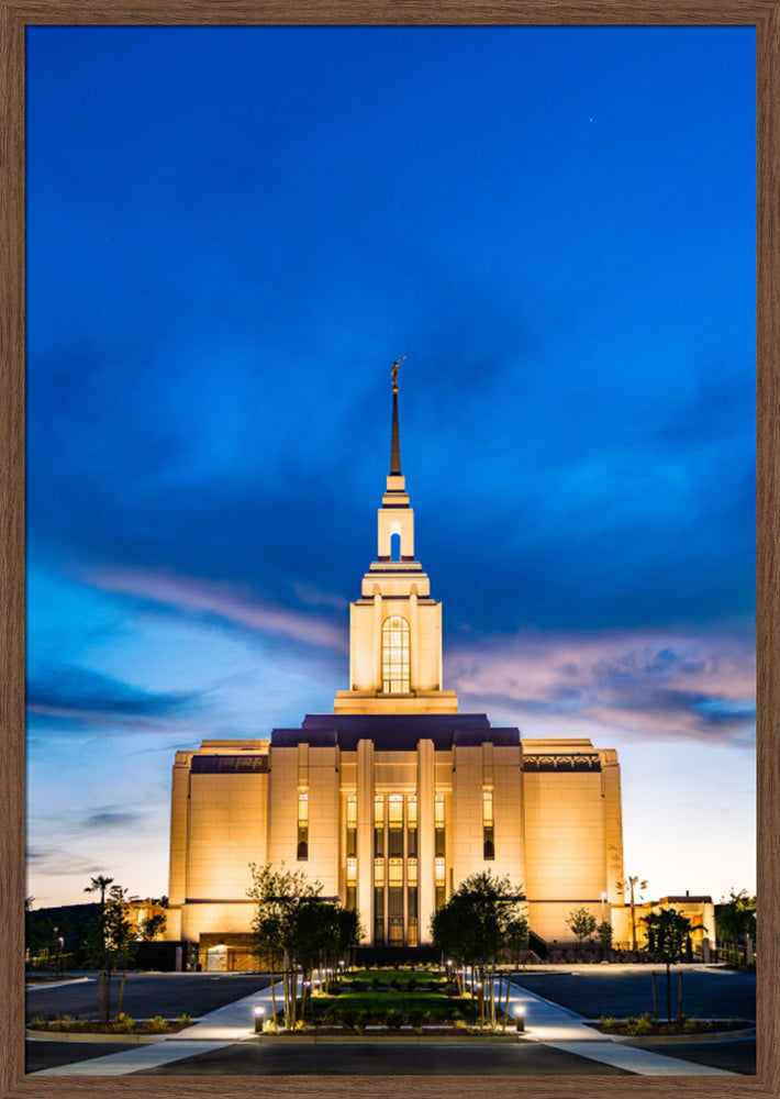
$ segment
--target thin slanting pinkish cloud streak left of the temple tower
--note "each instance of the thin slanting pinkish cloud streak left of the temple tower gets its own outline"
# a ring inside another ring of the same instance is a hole
[[[347,631],[322,618],[253,602],[235,586],[132,568],[103,568],[89,580],[103,591],[130,596],[192,615],[214,617],[231,625],[343,652]]]

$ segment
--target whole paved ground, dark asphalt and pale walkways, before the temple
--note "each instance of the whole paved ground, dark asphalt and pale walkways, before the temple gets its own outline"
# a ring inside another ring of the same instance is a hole
[[[589,973],[583,972],[590,969]],[[610,972],[612,969],[612,972]],[[371,1042],[368,1039],[334,1039],[313,1042],[304,1037],[258,1039],[254,1033],[254,1007],[268,1011],[271,991],[268,978],[250,975],[132,975],[125,996],[141,1003],[137,1017],[157,1013],[158,1004],[172,1004],[169,1014],[188,1011],[197,1021],[164,1041],[133,1043],[62,1042],[33,1040],[26,1043],[27,1073],[43,1076],[144,1075],[533,1075],[533,1074],[632,1074],[642,1076],[731,1075],[755,1072],[755,1041],[679,1042],[664,1045],[632,1044],[605,1037],[586,1019],[600,1013],[639,1014],[634,1004],[623,1011],[616,1004],[633,1003],[649,973],[636,967],[569,967],[545,974],[516,974],[510,1007],[525,1010],[526,1033],[511,1042],[460,1039],[426,1042],[411,1032],[405,1040]],[[734,978],[734,979],[732,979]],[[661,987],[661,977],[659,988]],[[751,1018],[738,1010],[755,1004],[755,977],[723,970],[686,969],[686,993],[694,1000],[711,990],[702,1017]],[[531,986],[534,986],[533,988]],[[60,1003],[81,1000],[81,985],[63,985],[46,993],[35,990],[27,1010],[37,1013],[35,997],[46,995]],[[542,987],[543,992],[536,989]],[[91,984],[92,995],[94,985]],[[203,1004],[220,1001],[203,1011]],[[200,1004],[193,1009],[193,1004]],[[587,1014],[578,1011],[597,1004]],[[34,1008],[31,1008],[34,1004]],[[604,1008],[604,1004],[610,1007]],[[54,1010],[68,1010],[73,1004]],[[133,1011],[127,1009],[132,1014]],[[161,1012],[160,1013],[165,1013]],[[690,1012],[693,1013],[693,1012]]]

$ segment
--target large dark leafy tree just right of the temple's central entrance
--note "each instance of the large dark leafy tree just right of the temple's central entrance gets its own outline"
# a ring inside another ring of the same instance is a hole
[[[434,913],[431,932],[434,946],[448,957],[478,972],[480,1021],[488,989],[490,1020],[495,1022],[495,961],[508,946],[527,939],[525,896],[508,877],[472,874],[460,882],[449,900]],[[486,981],[489,969],[489,980]]]

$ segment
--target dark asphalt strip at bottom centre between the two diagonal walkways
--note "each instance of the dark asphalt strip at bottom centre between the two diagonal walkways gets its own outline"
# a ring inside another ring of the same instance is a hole
[[[544,1045],[231,1045],[135,1076],[629,1076]]]

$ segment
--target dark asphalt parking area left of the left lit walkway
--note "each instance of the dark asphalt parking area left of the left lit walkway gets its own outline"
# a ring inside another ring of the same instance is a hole
[[[122,974],[114,974],[111,979],[112,1011],[116,1010],[121,984]],[[122,1010],[133,1019],[148,1019],[151,1015],[176,1019],[182,1012],[196,1019],[263,988],[268,988],[268,977],[261,974],[129,973]],[[42,985],[27,989],[25,1014],[27,1019],[38,1014],[97,1019],[97,978],[57,988]]]

